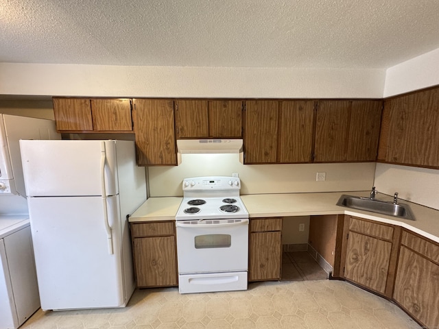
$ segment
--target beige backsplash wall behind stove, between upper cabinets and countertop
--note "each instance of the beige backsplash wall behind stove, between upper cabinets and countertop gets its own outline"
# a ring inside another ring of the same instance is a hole
[[[152,197],[182,195],[184,178],[238,173],[241,194],[364,191],[372,187],[375,163],[242,164],[239,154],[182,154],[178,166],[150,167]],[[316,173],[327,180],[316,182]]]

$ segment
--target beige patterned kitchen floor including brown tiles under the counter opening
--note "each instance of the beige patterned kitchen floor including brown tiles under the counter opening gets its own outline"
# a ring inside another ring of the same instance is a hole
[[[324,280],[327,274],[308,256],[284,254],[283,280],[250,283],[247,291],[180,295],[177,288],[137,289],[126,308],[38,310],[21,328],[421,328],[388,300],[348,282]]]

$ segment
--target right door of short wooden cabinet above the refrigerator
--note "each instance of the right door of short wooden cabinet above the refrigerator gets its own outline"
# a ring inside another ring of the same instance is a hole
[[[93,128],[97,132],[131,132],[130,99],[91,99]]]

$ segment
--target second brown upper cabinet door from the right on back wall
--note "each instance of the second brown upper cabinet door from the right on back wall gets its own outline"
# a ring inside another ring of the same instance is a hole
[[[315,162],[346,160],[350,101],[318,101]]]

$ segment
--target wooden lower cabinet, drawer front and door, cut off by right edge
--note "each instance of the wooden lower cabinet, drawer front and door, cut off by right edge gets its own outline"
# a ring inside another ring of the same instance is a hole
[[[439,245],[404,231],[393,299],[426,328],[439,328]]]

